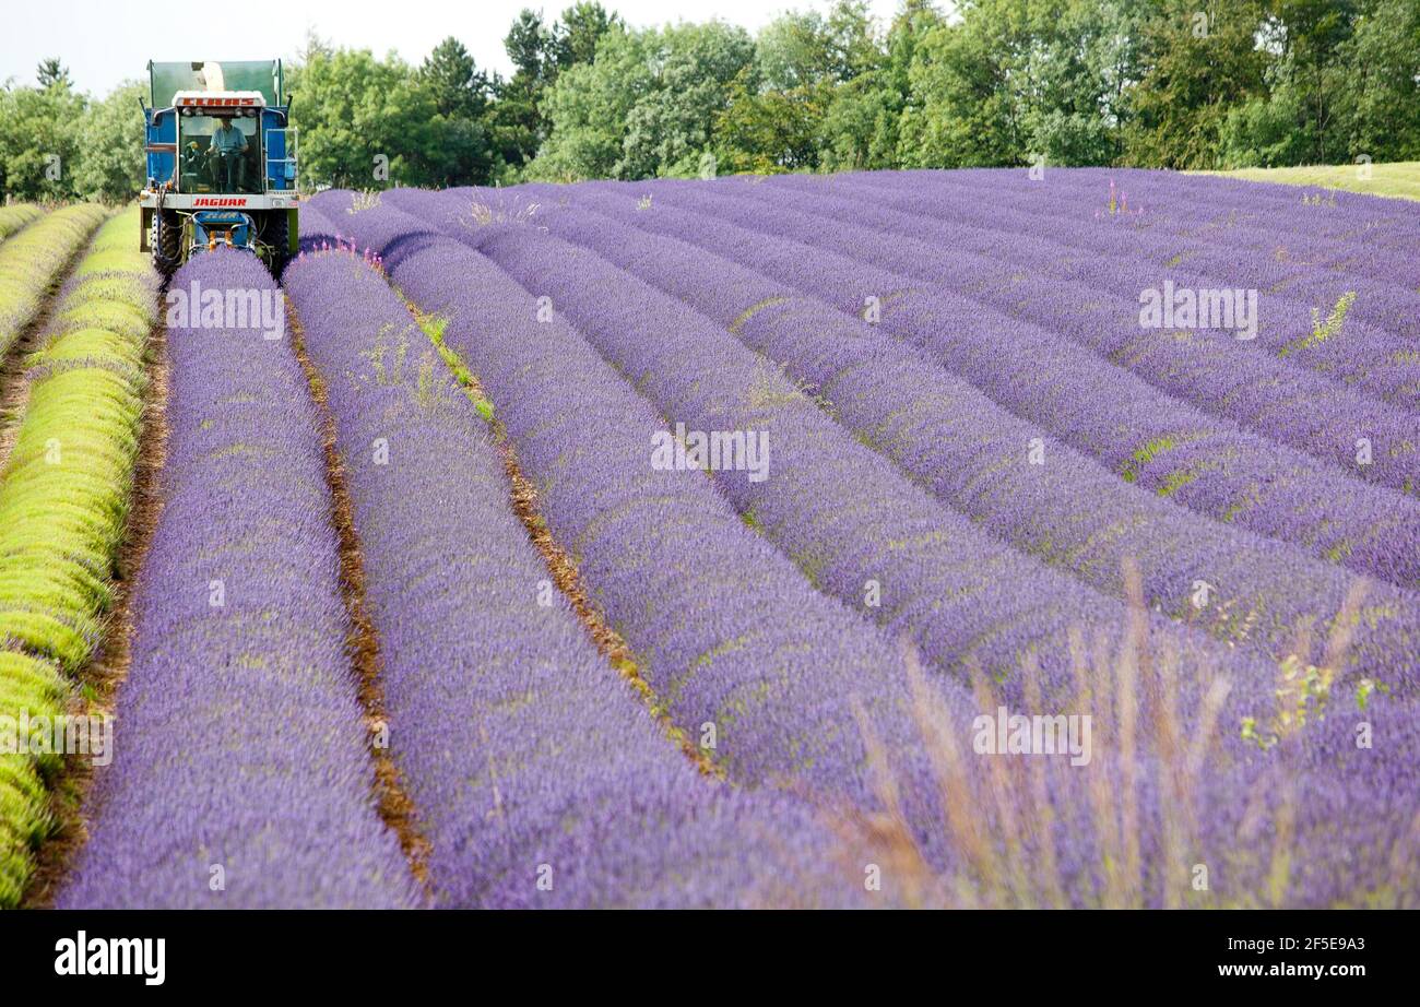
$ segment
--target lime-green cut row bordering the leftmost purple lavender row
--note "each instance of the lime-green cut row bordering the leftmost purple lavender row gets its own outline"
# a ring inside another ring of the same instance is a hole
[[[0,472],[0,908],[48,832],[54,758],[3,753],[4,717],[65,709],[65,672],[92,656],[114,601],[159,311],[136,233],[136,209],[112,217],[62,288],[26,359],[28,401]]]

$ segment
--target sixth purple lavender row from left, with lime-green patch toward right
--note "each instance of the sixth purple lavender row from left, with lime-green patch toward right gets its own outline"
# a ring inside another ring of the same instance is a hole
[[[574,205],[683,237],[849,314],[862,317],[865,297],[878,298],[885,331],[926,349],[997,403],[1130,481],[1328,561],[1400,587],[1420,585],[1420,507],[1413,501],[1345,479],[1301,452],[1170,399],[1127,372],[1102,368],[1093,354],[1068,339],[966,298],[917,293],[910,278],[826,250],[828,244],[852,249],[869,241],[851,229],[757,203],[711,200],[699,189],[694,199],[682,193],[673,199],[672,187],[659,185],[646,210],[636,209],[636,197],[646,190],[642,185],[595,183],[567,195]],[[707,213],[711,207],[716,213]],[[755,230],[761,217],[781,229],[792,222],[797,236]],[[744,226],[731,226],[734,220]]]

